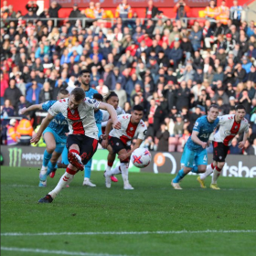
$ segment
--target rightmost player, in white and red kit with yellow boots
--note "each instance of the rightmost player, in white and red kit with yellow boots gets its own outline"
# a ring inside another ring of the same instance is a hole
[[[220,189],[217,185],[217,179],[225,165],[232,139],[237,134],[244,133],[243,140],[239,143],[239,148],[243,148],[249,136],[249,123],[244,118],[246,114],[244,106],[240,104],[235,109],[235,114],[226,114],[219,117],[219,131],[214,134],[213,140],[213,163],[207,166],[205,173],[197,176],[197,181],[202,188],[206,188],[205,178],[213,173],[210,187]]]

